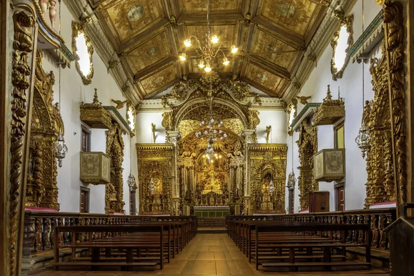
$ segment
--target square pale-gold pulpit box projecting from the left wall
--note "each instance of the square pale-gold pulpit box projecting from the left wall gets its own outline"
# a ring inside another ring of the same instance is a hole
[[[110,157],[103,152],[81,152],[80,179],[85,183],[110,182]]]

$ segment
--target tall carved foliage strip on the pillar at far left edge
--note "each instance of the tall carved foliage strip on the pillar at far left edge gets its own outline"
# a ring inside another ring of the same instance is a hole
[[[33,57],[33,10],[17,10],[13,14],[14,39],[12,53],[12,121],[10,130],[10,274],[14,275],[19,228],[19,204],[22,204],[20,193],[25,187],[22,179],[23,146],[26,135],[26,117],[28,112],[26,90],[30,86],[31,67]]]

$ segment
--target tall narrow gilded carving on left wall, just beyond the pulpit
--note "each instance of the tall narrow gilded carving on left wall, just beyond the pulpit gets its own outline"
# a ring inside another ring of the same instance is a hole
[[[113,124],[106,131],[106,154],[110,156],[110,184],[105,190],[105,212],[124,213],[124,139],[121,128]],[[113,189],[112,189],[113,188]],[[115,197],[115,200],[113,200]]]

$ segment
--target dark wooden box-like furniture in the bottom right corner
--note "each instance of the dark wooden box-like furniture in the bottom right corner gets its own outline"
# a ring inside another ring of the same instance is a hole
[[[390,275],[414,275],[414,216],[407,215],[407,209],[414,212],[414,204],[400,205],[400,218],[384,229],[390,241]]]

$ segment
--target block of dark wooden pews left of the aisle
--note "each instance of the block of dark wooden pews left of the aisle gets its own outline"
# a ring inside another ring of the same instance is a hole
[[[106,226],[57,226],[55,228],[55,263],[59,266],[132,266],[152,267],[164,260],[170,262],[193,237],[195,221],[148,221]],[[72,239],[72,244],[59,244],[59,235],[88,233],[88,241]],[[102,239],[93,239],[97,237]],[[72,262],[59,262],[59,248],[72,248]],[[76,257],[77,248],[88,248],[89,257]],[[136,257],[134,257],[134,255]]]

